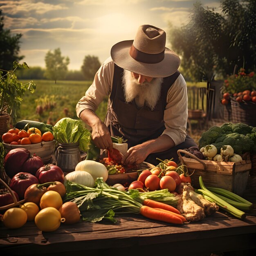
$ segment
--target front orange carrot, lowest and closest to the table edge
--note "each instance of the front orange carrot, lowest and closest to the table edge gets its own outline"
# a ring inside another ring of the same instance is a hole
[[[172,213],[167,213],[165,211],[159,211],[157,209],[142,205],[139,209],[139,212],[144,217],[147,217],[152,220],[160,220],[173,224],[183,224],[181,218],[174,216]]]

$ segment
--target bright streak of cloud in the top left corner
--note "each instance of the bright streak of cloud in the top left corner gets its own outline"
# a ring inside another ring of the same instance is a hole
[[[8,13],[11,16],[15,16],[18,14],[27,16],[32,12],[36,14],[44,14],[49,11],[67,9],[67,7],[61,4],[58,4],[58,5],[48,4],[48,3],[38,2],[38,1],[30,2],[27,0],[20,0],[20,1],[5,0],[5,1],[2,1],[1,3],[3,4],[1,6],[3,13]]]

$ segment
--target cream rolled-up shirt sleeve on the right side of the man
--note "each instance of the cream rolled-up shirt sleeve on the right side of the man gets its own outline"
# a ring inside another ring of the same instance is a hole
[[[164,122],[166,129],[162,134],[170,136],[175,145],[182,143],[186,137],[187,119],[188,96],[186,82],[180,74],[167,94],[167,105],[164,110]]]

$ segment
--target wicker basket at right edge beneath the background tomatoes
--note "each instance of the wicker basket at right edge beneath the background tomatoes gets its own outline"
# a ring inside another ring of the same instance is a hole
[[[256,127],[256,104],[253,102],[238,103],[231,100],[232,123],[244,123]]]

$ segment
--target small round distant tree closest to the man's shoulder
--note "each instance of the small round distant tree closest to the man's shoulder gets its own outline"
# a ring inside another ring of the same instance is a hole
[[[96,56],[85,56],[81,70],[86,80],[93,80],[95,73],[99,70],[101,63]]]

